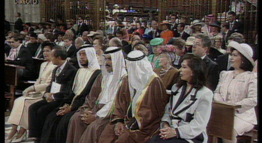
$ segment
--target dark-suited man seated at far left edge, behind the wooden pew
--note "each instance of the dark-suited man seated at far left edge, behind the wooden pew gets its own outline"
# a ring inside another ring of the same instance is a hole
[[[33,60],[30,54],[30,51],[22,45],[22,40],[24,39],[24,35],[18,33],[14,34],[8,41],[10,41],[13,53],[9,53],[5,63],[15,64],[24,66],[25,68],[18,70],[18,75],[20,80],[31,80],[32,71],[33,71]],[[10,59],[9,56],[13,58]]]

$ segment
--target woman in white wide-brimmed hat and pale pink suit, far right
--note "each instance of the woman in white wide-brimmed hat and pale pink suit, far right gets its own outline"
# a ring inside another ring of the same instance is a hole
[[[223,142],[236,142],[236,136],[250,131],[257,124],[254,107],[257,104],[257,73],[253,73],[252,48],[246,43],[230,41],[232,47],[230,62],[234,70],[221,71],[219,82],[214,90],[214,100],[241,105],[235,109],[233,139]]]

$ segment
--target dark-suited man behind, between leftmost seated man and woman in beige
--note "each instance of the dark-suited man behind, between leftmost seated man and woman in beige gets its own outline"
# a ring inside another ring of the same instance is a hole
[[[34,53],[39,46],[39,43],[37,42],[37,34],[35,32],[30,32],[29,40],[30,42],[27,44],[26,47],[29,49],[31,56],[34,56]]]

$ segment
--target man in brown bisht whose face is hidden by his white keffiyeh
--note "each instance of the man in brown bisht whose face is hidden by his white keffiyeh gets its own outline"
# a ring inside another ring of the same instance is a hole
[[[129,93],[119,92],[115,110],[98,142],[147,142],[155,134],[168,102],[160,77],[140,50],[127,54]]]

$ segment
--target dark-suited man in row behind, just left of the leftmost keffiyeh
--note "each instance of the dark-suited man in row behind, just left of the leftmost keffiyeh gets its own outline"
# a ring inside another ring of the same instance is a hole
[[[73,42],[73,38],[71,36],[63,36],[63,42],[64,42],[64,47],[66,49],[67,57],[72,58],[76,54],[76,47]]]

